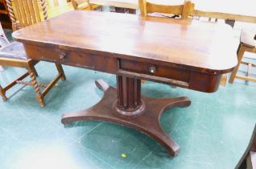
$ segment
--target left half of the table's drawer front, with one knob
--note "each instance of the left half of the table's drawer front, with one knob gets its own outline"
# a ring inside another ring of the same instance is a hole
[[[24,47],[27,56],[33,60],[45,60],[109,73],[116,73],[118,68],[117,59],[114,57],[75,52],[57,47],[39,47],[31,44],[26,44]]]

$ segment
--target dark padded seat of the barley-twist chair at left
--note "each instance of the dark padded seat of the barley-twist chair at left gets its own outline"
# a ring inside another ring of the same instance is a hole
[[[0,59],[10,58],[16,60],[27,60],[23,43],[13,42],[0,49]]]

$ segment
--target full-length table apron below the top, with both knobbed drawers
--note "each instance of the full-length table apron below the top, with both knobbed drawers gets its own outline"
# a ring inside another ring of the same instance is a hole
[[[23,45],[27,56],[33,60],[45,60],[112,74],[120,74],[120,71],[128,72],[126,76],[132,75],[138,79],[153,80],[205,93],[215,92],[221,80],[221,74],[195,72],[184,68],[153,64],[151,62],[127,60],[114,56],[101,56],[86,52],[64,50],[57,47],[44,47],[31,43],[23,43]]]

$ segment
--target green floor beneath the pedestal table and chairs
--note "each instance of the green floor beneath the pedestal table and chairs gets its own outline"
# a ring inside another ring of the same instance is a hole
[[[36,68],[39,80],[49,81],[56,74],[53,64],[40,62]],[[0,72],[1,84],[21,72],[5,68]],[[48,93],[44,108],[35,101],[31,87],[0,101],[1,169],[231,169],[246,149],[256,122],[256,83],[236,80],[209,94],[147,82],[142,85],[146,96],[192,100],[188,108],[169,109],[161,118],[163,129],[181,147],[180,155],[169,158],[157,142],[126,127],[78,122],[64,128],[63,113],[100,101],[102,93],[94,80],[115,85],[115,76],[107,73],[68,66],[64,72],[67,80]]]

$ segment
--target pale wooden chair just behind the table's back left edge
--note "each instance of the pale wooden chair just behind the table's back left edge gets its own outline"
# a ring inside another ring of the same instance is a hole
[[[71,2],[75,10],[96,10],[97,8],[103,10],[102,6],[91,4],[89,0],[71,0]]]

